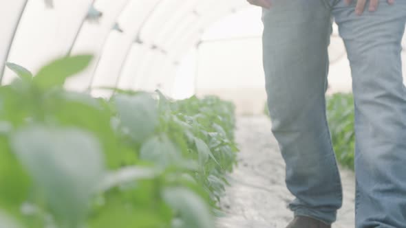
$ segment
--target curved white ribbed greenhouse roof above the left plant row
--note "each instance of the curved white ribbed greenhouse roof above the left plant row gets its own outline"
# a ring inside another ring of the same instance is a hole
[[[246,6],[245,0],[1,1],[1,81],[14,78],[6,61],[35,72],[57,56],[92,53],[92,65],[67,87],[165,85],[206,27]]]

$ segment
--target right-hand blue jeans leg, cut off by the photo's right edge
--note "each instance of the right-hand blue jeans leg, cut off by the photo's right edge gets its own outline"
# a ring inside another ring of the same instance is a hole
[[[401,38],[406,1],[333,14],[352,69],[356,133],[356,227],[406,227],[406,89]]]

